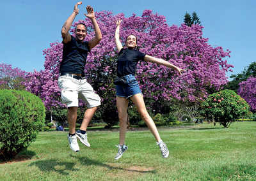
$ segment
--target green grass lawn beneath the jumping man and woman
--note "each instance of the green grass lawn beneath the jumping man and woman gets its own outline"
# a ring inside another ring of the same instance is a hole
[[[0,180],[256,180],[256,122],[230,128],[197,124],[159,128],[170,156],[149,131],[127,133],[128,150],[115,161],[118,132],[88,131],[91,147],[71,152],[67,132],[41,132],[19,157],[0,164]]]

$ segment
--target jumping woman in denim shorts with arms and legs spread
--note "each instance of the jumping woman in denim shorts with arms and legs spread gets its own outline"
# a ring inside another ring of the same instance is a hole
[[[136,106],[138,112],[141,115],[141,119],[147,124],[151,133],[154,135],[159,146],[162,156],[167,158],[169,156],[169,150],[166,147],[166,144],[161,140],[159,133],[156,128],[156,124],[148,115],[143,95],[141,93],[138,82],[135,78],[136,66],[138,61],[147,61],[152,63],[157,63],[168,68],[176,69],[181,75],[184,69],[180,69],[170,62],[164,61],[163,59],[158,59],[156,57],[151,57],[150,55],[143,54],[139,50],[136,50],[137,38],[133,34],[127,36],[125,40],[125,48],[123,48],[120,41],[120,24],[122,20],[116,20],[116,31],[115,31],[115,43],[118,50],[118,61],[117,61],[117,76],[115,80],[116,85],[116,106],[118,110],[118,119],[120,121],[120,134],[119,134],[119,145],[118,153],[115,156],[115,159],[122,157],[124,152],[127,150],[127,145],[125,145],[125,133],[127,129],[127,108],[128,108],[128,98],[132,100]]]

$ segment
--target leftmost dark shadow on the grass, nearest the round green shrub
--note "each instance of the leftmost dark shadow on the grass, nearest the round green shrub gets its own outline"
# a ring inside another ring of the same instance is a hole
[[[74,168],[76,163],[72,162],[63,162],[57,159],[47,159],[43,161],[36,161],[34,163],[29,164],[29,166],[37,166],[41,171],[44,172],[52,172],[56,171],[61,175],[68,175],[67,171],[77,171]]]

